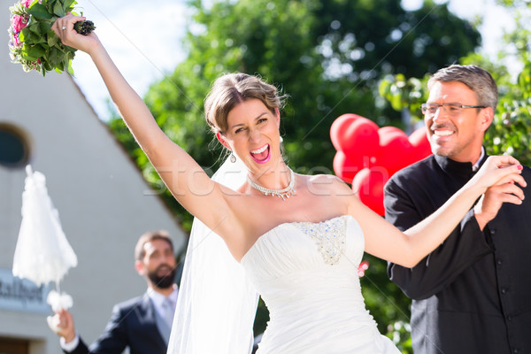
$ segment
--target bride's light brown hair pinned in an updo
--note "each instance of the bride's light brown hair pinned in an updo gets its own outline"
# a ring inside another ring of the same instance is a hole
[[[277,88],[247,73],[227,73],[212,84],[212,89],[204,99],[204,114],[214,133],[227,132],[227,116],[236,105],[257,98],[275,113],[281,110],[285,96],[280,96]]]

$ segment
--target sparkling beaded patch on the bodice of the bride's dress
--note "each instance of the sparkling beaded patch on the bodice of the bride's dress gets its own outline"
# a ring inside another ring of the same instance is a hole
[[[294,225],[304,234],[312,236],[327,265],[333,266],[339,261],[345,250],[346,219],[335,218],[319,223],[296,222]]]

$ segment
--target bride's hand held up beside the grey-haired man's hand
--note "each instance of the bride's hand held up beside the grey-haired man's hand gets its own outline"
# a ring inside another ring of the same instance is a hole
[[[526,187],[527,182],[521,176],[522,165],[516,158],[511,156],[491,156],[481,166],[471,182],[486,191],[491,186],[499,186],[505,183],[518,183],[520,187]],[[523,193],[519,194],[523,199]]]

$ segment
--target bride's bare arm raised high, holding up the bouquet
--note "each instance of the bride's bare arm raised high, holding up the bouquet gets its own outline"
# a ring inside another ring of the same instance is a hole
[[[225,196],[231,192],[212,181],[201,166],[158,127],[142,98],[129,86],[97,36],[94,33],[79,35],[73,30],[74,23],[81,19],[68,14],[57,19],[52,29],[65,45],[82,50],[92,58],[127,127],[173,196],[205,225],[218,228],[228,216]],[[204,203],[204,198],[208,198],[208,203]]]

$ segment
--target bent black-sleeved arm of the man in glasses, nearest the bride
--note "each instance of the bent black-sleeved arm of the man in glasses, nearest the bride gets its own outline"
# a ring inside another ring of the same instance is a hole
[[[386,185],[384,192],[386,219],[402,230],[416,225],[440,206],[433,204],[433,199],[430,203],[425,196],[412,196],[393,179]],[[432,191],[440,192],[436,189]],[[424,299],[439,292],[454,281],[459,273],[489,252],[491,249],[487,238],[471,210],[443,244],[417,266],[404,268],[390,263],[388,274],[406,296]]]

